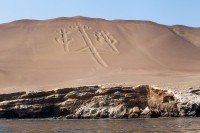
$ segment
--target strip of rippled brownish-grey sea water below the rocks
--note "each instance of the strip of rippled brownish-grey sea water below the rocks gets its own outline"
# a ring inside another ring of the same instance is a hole
[[[128,120],[0,120],[0,133],[200,133],[200,118]]]

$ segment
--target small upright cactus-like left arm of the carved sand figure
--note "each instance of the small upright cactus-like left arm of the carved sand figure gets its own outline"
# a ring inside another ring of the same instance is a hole
[[[68,34],[70,34],[70,31],[67,31],[66,29],[60,29],[58,31],[56,31],[60,37],[59,38],[55,38],[55,40],[63,45],[63,49],[65,52],[69,52],[69,44],[70,42],[73,40],[73,38],[69,38]]]

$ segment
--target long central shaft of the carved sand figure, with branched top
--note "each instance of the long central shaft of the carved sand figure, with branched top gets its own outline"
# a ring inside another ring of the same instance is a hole
[[[86,25],[82,25],[82,24],[76,24],[74,26],[70,26],[69,28],[78,30],[79,33],[82,35],[82,38],[85,44],[87,45],[87,47],[83,48],[82,50],[89,48],[90,52],[92,53],[92,56],[97,61],[97,63],[100,66],[108,67],[107,63],[100,56],[98,50],[96,49],[95,45],[93,44],[92,40],[90,39],[90,37],[88,36],[86,32],[86,30],[90,30],[92,28]]]

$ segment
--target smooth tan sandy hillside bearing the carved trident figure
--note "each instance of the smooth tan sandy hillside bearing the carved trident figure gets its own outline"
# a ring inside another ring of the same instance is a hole
[[[199,75],[199,28],[84,17],[0,24],[0,93]]]

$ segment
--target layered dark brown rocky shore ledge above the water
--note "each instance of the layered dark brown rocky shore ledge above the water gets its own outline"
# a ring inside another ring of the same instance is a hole
[[[198,91],[191,93],[197,95]],[[0,118],[122,119],[199,115],[199,104],[182,103],[173,93],[148,85],[84,86],[0,95]]]

